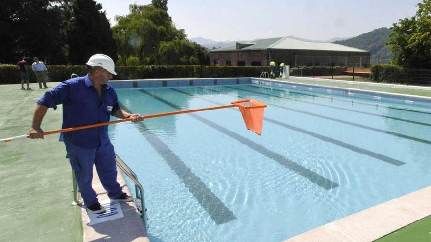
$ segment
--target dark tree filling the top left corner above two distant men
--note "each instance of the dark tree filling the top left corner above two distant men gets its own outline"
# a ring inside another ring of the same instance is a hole
[[[0,1],[0,63],[38,56],[66,64],[61,0]]]

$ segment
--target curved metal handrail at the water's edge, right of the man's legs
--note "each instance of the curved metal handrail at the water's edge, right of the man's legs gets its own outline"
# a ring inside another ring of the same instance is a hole
[[[126,163],[124,163],[124,161],[117,154],[115,155],[115,161],[117,163],[117,167],[120,168],[120,170],[135,184],[135,192],[136,192],[135,202],[136,200],[140,201],[141,206],[139,206],[139,203],[136,202],[138,205],[138,211],[141,213],[141,218],[144,223],[144,227],[148,228],[147,227],[148,218],[146,217],[147,210],[145,208],[145,199],[144,199],[144,188],[142,187],[141,183],[139,183],[138,176],[136,176],[136,174],[132,171],[132,169],[130,169],[130,167],[128,167]]]

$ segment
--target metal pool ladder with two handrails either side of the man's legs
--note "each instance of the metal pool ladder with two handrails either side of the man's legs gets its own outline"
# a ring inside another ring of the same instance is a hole
[[[117,164],[117,167],[123,172],[124,175],[127,176],[134,184],[135,184],[135,204],[137,206],[138,211],[141,214],[142,222],[144,223],[144,227],[148,229],[147,220],[146,217],[146,208],[145,208],[145,199],[144,199],[144,188],[142,187],[141,183],[138,181],[138,176],[124,163],[124,161],[118,156],[115,155],[115,161]],[[82,204],[82,200],[79,199],[79,193],[78,193],[78,185],[76,183],[75,178],[75,172],[72,170],[72,179],[73,179],[73,202],[72,205],[78,205]]]

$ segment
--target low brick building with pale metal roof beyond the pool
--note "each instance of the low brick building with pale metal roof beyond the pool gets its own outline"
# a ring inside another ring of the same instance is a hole
[[[237,42],[210,51],[213,66],[269,66],[271,59],[290,66],[370,67],[368,51],[293,37]]]

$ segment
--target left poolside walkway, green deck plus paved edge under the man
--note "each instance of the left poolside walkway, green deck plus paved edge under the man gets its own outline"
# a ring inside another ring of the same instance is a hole
[[[49,83],[51,87],[56,85]],[[0,86],[0,138],[27,134],[35,102],[47,91],[20,88]],[[48,110],[42,129],[58,130],[61,121],[60,105],[55,111]],[[133,202],[120,204],[123,217],[89,225],[85,209],[71,205],[72,170],[65,155],[58,134],[44,140],[0,143],[0,242],[149,242]],[[107,201],[96,170],[94,174],[93,187],[99,200]],[[125,184],[120,173],[118,180]]]

